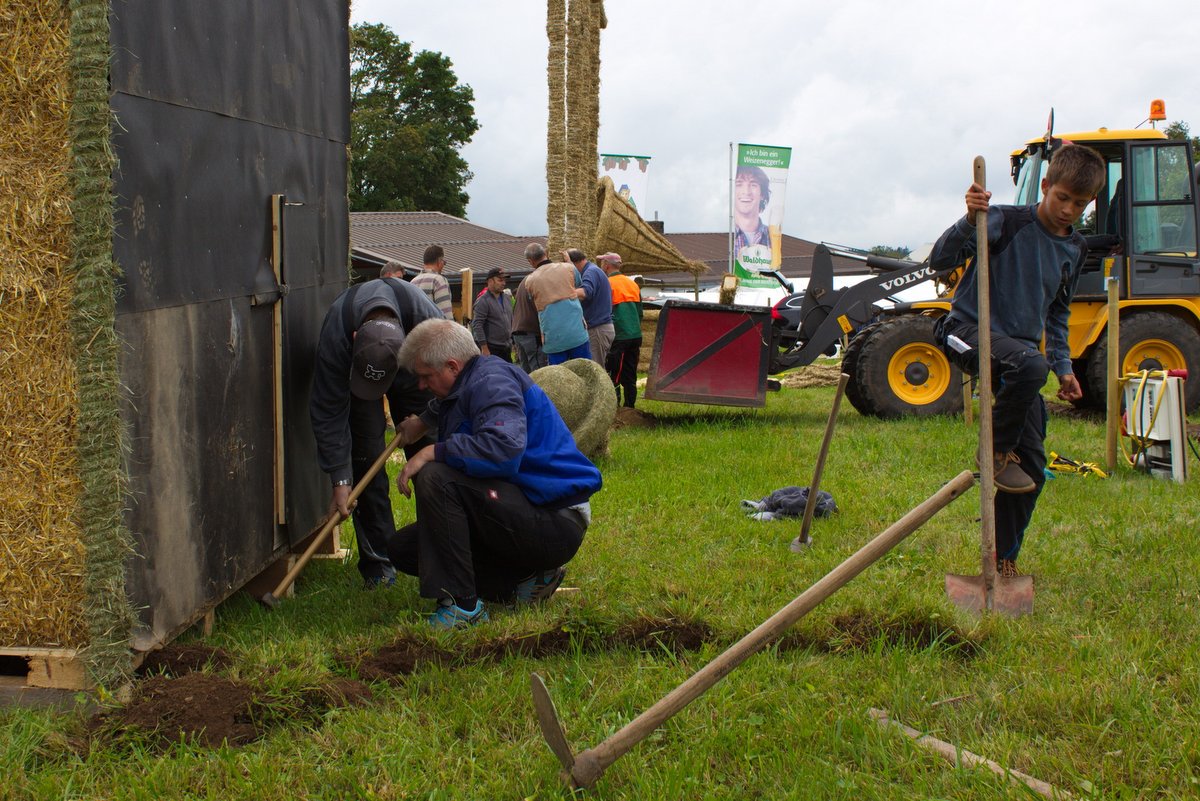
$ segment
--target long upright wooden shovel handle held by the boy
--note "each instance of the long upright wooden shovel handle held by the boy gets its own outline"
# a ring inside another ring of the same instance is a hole
[[[974,182],[988,188],[983,156],[974,158]],[[991,440],[991,270],[988,264],[988,212],[976,212],[976,289],[979,297],[979,519],[983,582],[991,608],[996,585],[996,462]]]

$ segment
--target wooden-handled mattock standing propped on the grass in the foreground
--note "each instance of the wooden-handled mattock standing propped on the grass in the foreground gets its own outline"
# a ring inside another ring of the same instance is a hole
[[[974,478],[970,471],[962,471],[948,481],[919,506],[893,523],[886,531],[859,548],[791,603],[595,748],[589,748],[577,755],[571,753],[550,693],[546,691],[541,676],[533,674],[530,683],[538,723],[546,743],[563,765],[564,779],[574,787],[589,788],[594,785],[610,765],[649,736],[676,712],[706,693],[752,654],[778,639],[796,621],[866,570],[883,554],[892,550],[901,540],[920,528],[973,483]]]

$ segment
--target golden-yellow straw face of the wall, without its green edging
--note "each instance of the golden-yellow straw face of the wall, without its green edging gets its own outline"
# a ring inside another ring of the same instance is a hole
[[[67,23],[50,0],[0,10],[0,645],[86,642]]]

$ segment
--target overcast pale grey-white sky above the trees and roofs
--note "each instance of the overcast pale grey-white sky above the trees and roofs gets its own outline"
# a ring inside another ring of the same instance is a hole
[[[917,248],[964,212],[976,155],[1044,132],[1135,127],[1150,101],[1200,134],[1200,1],[606,0],[600,151],[650,156],[668,233],[728,229],[730,141],[791,146],[784,231]],[[1139,19],[1148,12],[1150,19]],[[546,5],[354,0],[450,58],[475,92],[472,222],[546,231]],[[1159,124],[1162,127],[1162,124]]]

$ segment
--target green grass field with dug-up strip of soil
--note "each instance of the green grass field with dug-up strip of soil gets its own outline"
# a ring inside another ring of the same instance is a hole
[[[810,482],[832,399],[822,387],[785,389],[763,410],[640,402],[653,424],[616,430],[600,462],[568,576],[578,592],[433,636],[413,579],[365,592],[353,565],[314,564],[274,613],[245,595],[223,604],[203,642],[228,655],[203,675],[256,698],[246,742],[164,741],[89,723],[83,707],[5,710],[0,797],[571,797],[530,671],[575,749],[595,746],[972,465],[960,418],[884,422],[845,404],[822,481],[840,512],[793,554],[798,523],[751,520],[739,501]],[[1103,462],[1103,436],[1099,420],[1055,415],[1048,448]],[[396,513],[412,519],[407,501]],[[971,490],[587,795],[1033,797],[882,730],[868,717],[882,707],[1075,796],[1200,797],[1196,478],[1048,482],[1020,562],[1036,613],[1020,620],[974,619],[944,597],[947,572],[979,571],[977,516]],[[367,668],[397,638],[428,658],[371,681],[362,703],[313,700],[379,675]],[[197,687],[187,698],[205,707]]]

